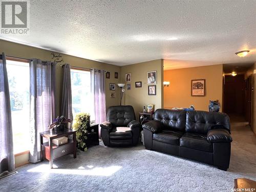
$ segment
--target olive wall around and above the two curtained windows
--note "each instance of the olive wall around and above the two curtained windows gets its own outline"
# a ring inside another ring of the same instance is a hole
[[[35,47],[25,46],[21,44],[16,44],[14,42],[5,41],[0,39],[0,53],[4,52],[8,56],[15,57],[23,57],[23,58],[38,58],[41,60],[51,60],[52,59],[52,51],[39,49]],[[56,52],[55,52],[56,53]],[[83,67],[83,68],[96,68],[109,71],[111,73],[110,79],[106,78],[105,81],[105,92],[106,92],[106,109],[112,105],[118,105],[120,102],[120,88],[117,86],[117,83],[120,79],[120,67],[114,66],[110,64],[106,64],[103,62],[98,62],[89,59],[83,59],[79,57],[74,57],[71,55],[61,54],[64,62],[61,63],[69,63],[71,66],[75,67]],[[119,78],[115,79],[114,74],[118,72]],[[116,83],[116,91],[110,91],[109,83]],[[56,66],[56,115],[60,112],[60,101],[61,101],[61,93],[62,93],[62,68],[58,65]],[[116,98],[111,98],[111,93],[116,93]]]

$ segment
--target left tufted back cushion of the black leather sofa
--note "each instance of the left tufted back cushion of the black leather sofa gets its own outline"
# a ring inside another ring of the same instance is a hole
[[[158,109],[155,112],[154,120],[161,121],[164,125],[164,129],[184,132],[185,118],[185,111]]]

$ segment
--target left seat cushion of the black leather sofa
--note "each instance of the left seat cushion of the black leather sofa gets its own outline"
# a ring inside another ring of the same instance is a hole
[[[173,145],[179,145],[182,135],[182,132],[164,130],[161,133],[155,133],[153,135],[153,140]]]

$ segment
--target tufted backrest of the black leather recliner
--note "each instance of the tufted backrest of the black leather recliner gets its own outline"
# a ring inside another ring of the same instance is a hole
[[[127,126],[131,121],[136,120],[133,106],[110,106],[106,113],[106,120],[111,122],[114,127]]]

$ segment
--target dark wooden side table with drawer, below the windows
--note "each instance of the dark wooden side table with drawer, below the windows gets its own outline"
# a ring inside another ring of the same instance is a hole
[[[53,139],[60,137],[68,137],[73,135],[73,139],[68,139],[68,143],[63,145],[56,145],[52,142]],[[43,142],[43,138],[48,139],[48,142]],[[68,155],[70,153],[74,154],[74,159],[76,158],[76,131],[64,129],[63,131],[46,131],[40,133],[40,143],[41,143],[41,161],[44,161],[44,157],[49,160],[50,168],[53,166],[53,161],[59,157]]]

